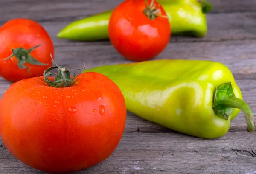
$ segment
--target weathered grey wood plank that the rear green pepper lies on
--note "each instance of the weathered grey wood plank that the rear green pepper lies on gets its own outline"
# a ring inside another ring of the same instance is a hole
[[[42,12],[42,15],[47,13]],[[27,16],[27,13],[20,14],[18,17],[25,17],[32,20],[36,20],[37,15],[34,13],[31,16]],[[4,22],[11,20],[16,16],[8,16],[7,18],[0,19],[0,25]],[[225,20],[223,20],[225,19]],[[223,22],[225,21],[225,22]],[[51,36],[55,46],[60,45],[77,45],[81,42],[70,42],[66,39],[58,39],[56,34],[67,26],[71,21],[65,18],[64,21],[40,21],[39,23],[47,30]],[[256,39],[256,13],[227,13],[227,14],[208,14],[207,15],[208,32],[203,38],[187,37],[187,36],[171,36],[170,42],[220,42],[225,40],[245,40]],[[108,40],[106,41],[107,43]],[[94,42],[90,42],[94,44]],[[110,43],[109,43],[110,44]]]

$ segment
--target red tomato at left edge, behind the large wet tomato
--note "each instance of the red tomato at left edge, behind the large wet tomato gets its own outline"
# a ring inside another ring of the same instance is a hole
[[[52,40],[35,21],[14,19],[6,22],[0,28],[0,48],[0,76],[8,81],[42,76],[44,70],[52,66]],[[34,49],[29,50],[31,48]]]

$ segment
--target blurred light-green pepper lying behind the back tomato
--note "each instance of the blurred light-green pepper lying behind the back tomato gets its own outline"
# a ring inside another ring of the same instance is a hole
[[[204,37],[207,33],[206,13],[212,5],[207,0],[158,0],[166,11],[172,35]],[[90,16],[70,23],[58,34],[58,38],[79,41],[108,39],[108,22],[112,11]]]

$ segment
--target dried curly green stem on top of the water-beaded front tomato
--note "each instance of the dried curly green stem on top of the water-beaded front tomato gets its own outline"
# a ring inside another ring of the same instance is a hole
[[[50,54],[50,56],[52,58],[52,53]],[[47,70],[44,71],[44,81],[45,81],[45,83],[48,86],[57,87],[57,88],[72,86],[73,82],[75,80],[75,77],[76,77],[76,73],[74,72],[74,70],[66,68],[66,67],[58,66],[53,58],[52,58],[52,63],[55,66],[54,67],[49,67]],[[56,68],[58,68],[58,72],[53,73],[53,74],[55,74],[55,77],[54,77],[54,81],[51,81],[48,78],[48,76],[51,76],[52,73],[50,71],[54,70]],[[79,69],[75,69],[75,70],[81,70],[83,68],[85,68],[85,64],[84,64],[84,67],[79,68]],[[70,78],[70,72],[69,71],[73,71],[73,73],[74,73],[72,78]]]

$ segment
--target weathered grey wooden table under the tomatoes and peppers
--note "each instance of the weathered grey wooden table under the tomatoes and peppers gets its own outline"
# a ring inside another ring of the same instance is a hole
[[[39,22],[55,44],[55,60],[76,68],[129,62],[109,41],[71,42],[55,35],[64,26],[117,6],[122,0],[1,0],[0,25],[18,17]],[[256,0],[211,0],[204,38],[172,37],[156,59],[204,59],[227,65],[256,113]],[[10,83],[0,79],[0,95]],[[16,160],[0,139],[0,173],[42,173]],[[127,113],[125,132],[104,162],[82,173],[236,173],[256,174],[256,133],[246,132],[242,112],[230,131],[207,140],[166,129]]]

